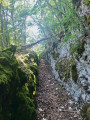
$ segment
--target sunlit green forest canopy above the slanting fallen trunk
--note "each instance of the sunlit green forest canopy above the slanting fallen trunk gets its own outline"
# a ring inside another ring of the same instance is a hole
[[[74,0],[73,0],[74,2]],[[72,0],[0,0],[0,50],[49,38],[38,46],[48,47],[64,31],[65,40],[83,32],[82,18]],[[77,2],[78,3],[78,2]],[[75,3],[76,4],[76,3]]]

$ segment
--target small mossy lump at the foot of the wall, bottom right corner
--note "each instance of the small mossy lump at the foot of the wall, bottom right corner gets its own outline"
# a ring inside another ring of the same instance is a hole
[[[84,120],[90,120],[90,103],[84,103],[80,113]]]

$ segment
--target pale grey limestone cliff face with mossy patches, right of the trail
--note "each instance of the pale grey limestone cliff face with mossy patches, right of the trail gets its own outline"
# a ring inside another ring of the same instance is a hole
[[[87,16],[88,7],[81,1],[78,12]],[[58,39],[45,52],[52,66],[55,79],[72,95],[80,105],[90,102],[90,35],[78,36],[79,41],[71,39],[63,42]]]

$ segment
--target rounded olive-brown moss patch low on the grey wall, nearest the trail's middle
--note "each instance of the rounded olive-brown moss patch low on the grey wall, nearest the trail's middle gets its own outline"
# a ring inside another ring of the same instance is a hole
[[[76,63],[73,59],[69,60],[67,58],[62,58],[55,64],[55,69],[58,71],[60,79],[65,77],[65,81],[70,78],[70,73],[72,80],[77,82],[78,74],[76,69]]]

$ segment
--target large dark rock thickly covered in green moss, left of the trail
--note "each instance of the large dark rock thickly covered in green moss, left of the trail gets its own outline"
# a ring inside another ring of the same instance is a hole
[[[0,54],[0,119],[35,120],[38,57],[32,55],[35,63],[28,55],[26,64],[14,53],[8,48]]]

